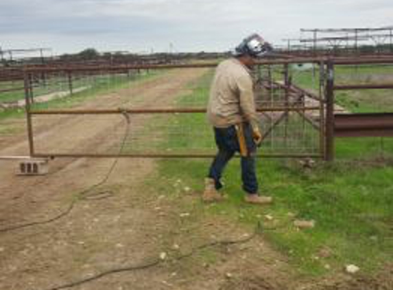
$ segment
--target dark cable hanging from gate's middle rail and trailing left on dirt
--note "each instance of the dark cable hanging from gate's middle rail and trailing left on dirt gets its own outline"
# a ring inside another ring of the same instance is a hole
[[[126,129],[124,131],[123,139],[121,140],[121,146],[119,148],[118,155],[121,155],[123,152],[124,147],[126,146],[126,140],[128,137],[128,134],[130,133],[130,116],[126,111],[121,112],[126,120]],[[119,157],[117,157],[111,164],[108,172],[104,176],[104,178],[99,181],[98,183],[93,184],[93,186],[90,186],[86,188],[85,190],[82,190],[81,192],[78,192],[77,197],[71,201],[69,204],[68,208],[64,210],[63,212],[60,212],[57,216],[52,217],[51,219],[47,219],[45,221],[33,221],[31,223],[23,223],[21,225],[12,225],[10,227],[4,227],[0,229],[1,232],[12,232],[14,230],[19,230],[23,229],[25,227],[32,227],[34,225],[45,225],[47,223],[52,223],[53,221],[57,221],[59,219],[62,219],[64,216],[67,216],[73,210],[74,206],[78,201],[84,201],[84,200],[98,200],[98,199],[106,199],[108,197],[111,197],[114,193],[111,190],[105,190],[101,192],[94,192],[91,193],[92,190],[95,188],[98,188],[99,186],[102,186],[106,181],[108,181],[110,175],[112,174],[113,170],[115,170],[115,167],[117,166],[117,163],[119,161]]]

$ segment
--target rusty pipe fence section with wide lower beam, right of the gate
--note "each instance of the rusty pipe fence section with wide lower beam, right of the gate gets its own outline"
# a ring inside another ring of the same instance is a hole
[[[335,158],[336,137],[393,137],[392,62],[329,60],[326,64],[325,159]],[[340,75],[340,70],[346,74]],[[337,103],[343,101],[354,107],[352,113],[337,110]],[[362,103],[367,106],[357,110]]]

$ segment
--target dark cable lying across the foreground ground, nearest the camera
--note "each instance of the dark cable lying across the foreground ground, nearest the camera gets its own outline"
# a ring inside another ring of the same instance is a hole
[[[189,258],[190,256],[193,256],[194,254],[201,251],[202,249],[206,249],[209,247],[244,244],[244,243],[251,241],[258,234],[261,234],[261,232],[262,232],[262,229],[260,227],[260,224],[257,223],[257,227],[255,227],[254,232],[252,234],[246,236],[246,238],[240,238],[237,240],[223,240],[223,241],[214,241],[214,242],[205,243],[205,244],[199,245],[198,247],[194,247],[193,249],[190,250],[189,253],[182,254],[180,256],[175,256],[172,259],[172,261],[180,261],[184,258]],[[143,270],[143,269],[156,267],[160,263],[163,263],[163,261],[164,261],[164,259],[162,259],[162,258],[154,258],[154,260],[152,260],[150,262],[142,263],[141,265],[130,265],[130,266],[118,267],[115,269],[110,269],[107,271],[103,271],[102,273],[95,274],[94,276],[91,276],[88,278],[83,278],[83,279],[77,280],[75,282],[69,282],[67,284],[56,286],[56,287],[49,288],[46,290],[61,290],[61,289],[77,287],[77,286],[80,286],[80,285],[85,284],[87,282],[91,282],[93,280],[98,280],[99,278],[102,278],[104,276],[108,276],[111,274],[117,274],[117,273],[121,273],[121,272],[129,272],[129,271],[137,271],[137,270]]]

